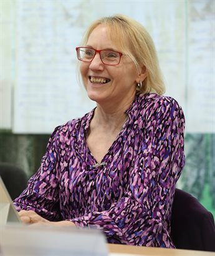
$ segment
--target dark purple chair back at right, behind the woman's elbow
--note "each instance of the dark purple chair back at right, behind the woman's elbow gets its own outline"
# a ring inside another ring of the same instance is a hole
[[[195,197],[180,189],[174,194],[171,238],[177,249],[215,252],[213,215]]]

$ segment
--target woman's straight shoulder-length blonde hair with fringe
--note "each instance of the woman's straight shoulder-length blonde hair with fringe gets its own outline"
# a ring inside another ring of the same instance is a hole
[[[88,27],[82,41],[83,45],[87,44],[88,37],[93,29],[100,24],[107,26],[110,39],[117,44],[124,54],[130,56],[136,67],[146,68],[147,77],[142,82],[143,86],[138,91],[163,94],[165,92],[165,85],[158,56],[153,40],[145,27],[130,17],[120,14],[102,17]]]

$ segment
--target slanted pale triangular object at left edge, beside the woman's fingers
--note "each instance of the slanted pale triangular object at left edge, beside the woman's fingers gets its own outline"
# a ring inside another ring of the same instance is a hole
[[[9,222],[22,223],[0,176],[0,225],[6,225]]]

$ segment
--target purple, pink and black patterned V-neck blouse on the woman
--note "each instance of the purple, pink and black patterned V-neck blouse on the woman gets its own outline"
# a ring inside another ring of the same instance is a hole
[[[102,165],[87,147],[93,110],[57,127],[17,210],[102,229],[108,242],[174,248],[170,215],[184,167],[184,115],[171,97],[137,94]]]

